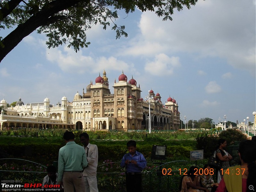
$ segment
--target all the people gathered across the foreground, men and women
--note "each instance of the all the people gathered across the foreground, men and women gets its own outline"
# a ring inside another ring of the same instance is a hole
[[[98,147],[90,144],[89,135],[85,132],[81,133],[79,138],[83,146],[75,143],[73,132],[67,131],[63,134],[66,145],[59,150],[58,173],[56,167],[48,166],[43,186],[59,184],[64,192],[98,192]],[[209,164],[204,165],[203,174],[196,174],[198,168],[191,166],[188,174],[183,175],[181,179],[180,192],[249,192],[256,188],[255,140],[256,136],[252,140],[241,141],[237,151],[241,164],[230,167],[232,156],[225,150],[227,141],[219,139],[214,152],[221,162],[221,169],[216,170],[217,182],[214,182],[213,174],[207,174],[212,169]],[[126,169],[126,190],[142,192],[141,172],[146,168],[147,161],[136,150],[136,141],[128,141],[127,149],[128,153],[121,161],[121,167]]]

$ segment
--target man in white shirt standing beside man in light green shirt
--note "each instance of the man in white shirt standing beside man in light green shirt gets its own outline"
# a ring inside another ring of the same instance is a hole
[[[98,192],[97,186],[97,166],[98,166],[98,147],[89,143],[89,135],[81,133],[79,135],[81,143],[85,149],[88,166],[84,169],[85,192]]]

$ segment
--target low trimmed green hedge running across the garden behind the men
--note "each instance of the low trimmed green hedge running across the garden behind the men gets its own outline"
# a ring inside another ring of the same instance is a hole
[[[52,164],[58,161],[59,149],[63,144],[2,144],[0,146],[0,158],[21,158],[34,161],[40,164]],[[99,149],[99,162],[105,160],[121,161],[127,153],[126,145],[116,144],[97,144]],[[151,157],[152,145],[137,145],[137,151],[142,153],[145,158]],[[167,146],[167,157],[189,157],[191,147],[184,146]]]

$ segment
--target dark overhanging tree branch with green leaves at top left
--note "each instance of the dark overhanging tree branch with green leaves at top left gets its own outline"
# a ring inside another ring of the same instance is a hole
[[[127,36],[124,26],[118,26],[118,10],[126,14],[153,11],[163,20],[172,20],[174,9],[190,9],[197,0],[1,0],[0,30],[15,28],[0,37],[0,62],[20,41],[37,30],[48,37],[48,48],[67,44],[77,52],[87,47],[86,30],[99,23],[116,31],[116,38]]]

